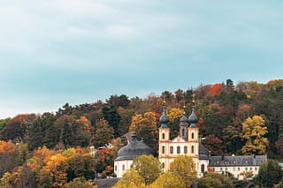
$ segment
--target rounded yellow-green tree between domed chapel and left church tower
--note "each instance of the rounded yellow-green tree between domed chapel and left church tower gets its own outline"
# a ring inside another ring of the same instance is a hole
[[[143,177],[145,184],[154,182],[161,173],[161,163],[152,155],[136,157],[131,167]]]

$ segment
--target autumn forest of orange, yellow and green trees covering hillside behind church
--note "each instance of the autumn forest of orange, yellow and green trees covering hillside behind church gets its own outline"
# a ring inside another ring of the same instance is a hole
[[[159,117],[165,103],[171,137],[180,117],[195,113],[203,145],[212,155],[267,154],[283,157],[283,79],[231,79],[146,98],[113,94],[105,102],[71,106],[55,113],[20,114],[0,120],[1,187],[96,187],[97,174],[113,174],[113,160],[135,127],[138,139],[157,149]],[[112,147],[105,147],[111,144]],[[89,146],[103,147],[95,157]]]

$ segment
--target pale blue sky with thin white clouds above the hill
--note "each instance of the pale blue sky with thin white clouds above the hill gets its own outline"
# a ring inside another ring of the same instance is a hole
[[[281,0],[0,1],[0,118],[282,79]]]

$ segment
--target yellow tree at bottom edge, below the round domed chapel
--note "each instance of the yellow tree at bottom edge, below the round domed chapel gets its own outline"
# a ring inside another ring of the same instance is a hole
[[[126,170],[126,173],[119,180],[119,182],[113,186],[113,188],[129,187],[130,184],[134,184],[135,186],[140,186],[144,183],[145,182],[142,176],[134,169],[130,168]]]

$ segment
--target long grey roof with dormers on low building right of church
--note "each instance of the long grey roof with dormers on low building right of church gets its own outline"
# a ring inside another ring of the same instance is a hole
[[[260,166],[267,155],[211,156],[210,167]]]

